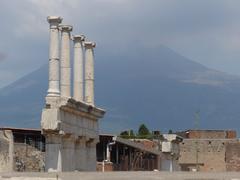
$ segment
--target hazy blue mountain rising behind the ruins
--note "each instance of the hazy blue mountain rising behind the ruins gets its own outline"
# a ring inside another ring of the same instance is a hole
[[[107,48],[105,48],[107,49]],[[240,123],[240,78],[209,69],[159,46],[125,51],[96,49],[96,104],[107,113],[102,132],[236,129]],[[47,63],[47,61],[46,61]],[[48,85],[45,65],[0,90],[0,125],[39,127]],[[238,130],[238,129],[236,129]]]

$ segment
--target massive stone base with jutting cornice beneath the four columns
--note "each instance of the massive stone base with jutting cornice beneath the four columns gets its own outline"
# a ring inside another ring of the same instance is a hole
[[[47,99],[42,112],[47,171],[95,171],[98,119],[104,111],[74,99]]]

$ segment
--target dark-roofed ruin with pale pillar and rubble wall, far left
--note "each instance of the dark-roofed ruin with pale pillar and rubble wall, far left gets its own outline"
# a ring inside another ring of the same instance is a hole
[[[0,172],[44,171],[45,138],[37,129],[0,128]]]

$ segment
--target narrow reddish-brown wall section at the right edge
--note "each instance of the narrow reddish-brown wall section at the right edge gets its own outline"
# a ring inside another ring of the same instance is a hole
[[[226,144],[227,171],[240,171],[240,143],[239,141]]]

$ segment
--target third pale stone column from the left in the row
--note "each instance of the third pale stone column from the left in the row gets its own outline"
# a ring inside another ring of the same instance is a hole
[[[74,62],[73,62],[73,98],[83,101],[83,41],[85,36],[73,36]]]

